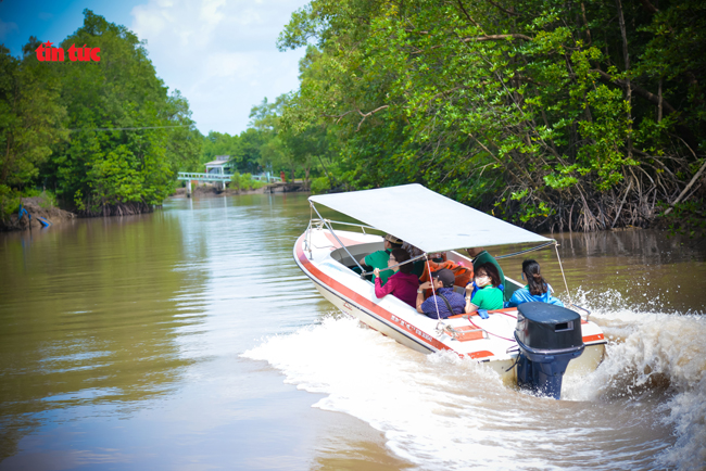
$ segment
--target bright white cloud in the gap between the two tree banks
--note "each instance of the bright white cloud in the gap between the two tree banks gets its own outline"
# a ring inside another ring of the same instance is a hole
[[[303,50],[276,41],[305,0],[148,0],[133,9],[131,29],[169,89],[189,100],[199,129],[239,133],[263,98],[299,86]]]

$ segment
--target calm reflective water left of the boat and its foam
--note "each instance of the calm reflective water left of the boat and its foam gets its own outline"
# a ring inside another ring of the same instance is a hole
[[[174,200],[0,234],[0,470],[306,469],[346,433],[399,462],[238,357],[330,309],[291,256],[303,214],[305,195]]]

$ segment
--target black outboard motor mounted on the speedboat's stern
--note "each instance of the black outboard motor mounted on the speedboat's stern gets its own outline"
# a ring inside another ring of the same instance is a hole
[[[581,316],[546,303],[522,303],[517,310],[517,384],[559,399],[566,367],[583,353]]]

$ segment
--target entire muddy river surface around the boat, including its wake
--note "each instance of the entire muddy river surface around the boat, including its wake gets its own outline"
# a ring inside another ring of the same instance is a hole
[[[555,234],[570,293],[532,254],[610,340],[556,402],[336,311],[292,259],[308,215],[174,199],[0,234],[0,470],[706,469],[706,242]]]

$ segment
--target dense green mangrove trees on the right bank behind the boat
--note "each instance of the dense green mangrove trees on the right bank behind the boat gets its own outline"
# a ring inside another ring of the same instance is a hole
[[[280,124],[333,137],[345,188],[538,230],[704,220],[701,1],[314,0],[279,47],[307,48]]]

